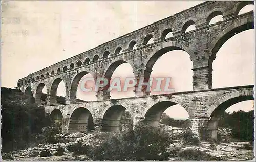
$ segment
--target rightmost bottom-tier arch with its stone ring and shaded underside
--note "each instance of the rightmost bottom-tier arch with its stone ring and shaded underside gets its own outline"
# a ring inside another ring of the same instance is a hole
[[[216,104],[212,105],[207,111],[207,114],[210,114],[210,119],[207,125],[207,131],[208,131],[209,137],[212,139],[217,139],[218,121],[220,119],[220,115],[223,114],[223,112],[227,108],[239,102],[248,101],[248,100],[254,101],[253,94],[248,93],[247,95],[244,95],[244,96],[242,96],[241,94],[239,95],[233,94],[233,95],[224,96],[223,98],[219,99],[218,102],[216,102],[216,104],[219,104],[218,106],[216,106]]]

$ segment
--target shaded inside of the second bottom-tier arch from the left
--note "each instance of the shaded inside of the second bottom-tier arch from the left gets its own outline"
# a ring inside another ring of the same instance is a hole
[[[69,133],[88,133],[92,130],[94,130],[94,120],[91,112],[84,107],[75,109],[70,117]]]

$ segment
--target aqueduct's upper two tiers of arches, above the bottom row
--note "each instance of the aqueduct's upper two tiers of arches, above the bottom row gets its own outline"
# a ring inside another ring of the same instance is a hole
[[[239,11],[253,1],[207,1],[195,7],[159,20],[144,28],[106,42],[89,51],[58,62],[40,71],[29,74],[17,82],[25,92],[32,89],[33,96],[46,86],[48,96],[55,98],[56,86],[63,80],[66,100],[75,101],[77,85],[87,73],[94,77],[111,78],[113,71],[122,63],[129,63],[134,76],[144,79],[150,76],[156,60],[172,50],[186,51],[193,62],[193,89],[211,89],[212,62],[222,44],[236,33],[254,28],[253,11],[239,15]],[[222,15],[223,21],[209,24],[215,16]],[[186,32],[188,26],[196,29]],[[173,32],[173,36],[166,35]],[[154,42],[148,44],[153,38]],[[165,39],[166,38],[166,39]],[[137,48],[135,49],[135,44]],[[136,91],[135,96],[149,95]],[[100,90],[97,99],[109,99],[109,94]],[[50,99],[49,99],[50,100]],[[52,102],[54,104],[54,102]]]

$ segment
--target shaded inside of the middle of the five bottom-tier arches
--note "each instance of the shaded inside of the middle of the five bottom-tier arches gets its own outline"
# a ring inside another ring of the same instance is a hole
[[[120,120],[127,109],[121,105],[113,105],[109,107],[102,118],[102,132],[120,131]]]

